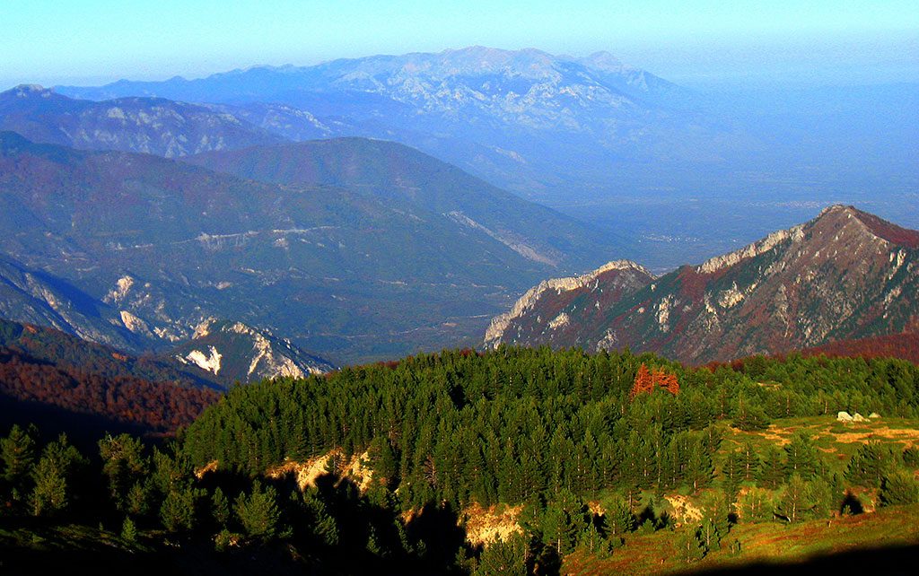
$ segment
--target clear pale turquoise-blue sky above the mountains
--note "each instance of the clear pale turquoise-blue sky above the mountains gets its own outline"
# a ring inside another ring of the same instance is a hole
[[[0,85],[482,45],[610,51],[686,85],[919,81],[915,0],[0,0]]]

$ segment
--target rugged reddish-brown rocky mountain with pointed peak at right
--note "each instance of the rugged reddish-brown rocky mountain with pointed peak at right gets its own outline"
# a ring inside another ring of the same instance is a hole
[[[540,331],[546,319],[526,312],[506,326],[496,320],[486,344],[630,346],[704,363],[911,331],[919,328],[917,260],[919,232],[834,206],[608,306],[593,294],[556,305],[566,314],[564,331]]]

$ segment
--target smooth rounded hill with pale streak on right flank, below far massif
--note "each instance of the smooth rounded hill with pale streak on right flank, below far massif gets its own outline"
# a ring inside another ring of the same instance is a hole
[[[208,152],[186,162],[280,185],[341,186],[391,198],[483,232],[544,265],[583,269],[601,258],[605,244],[575,220],[391,141],[305,141]]]

